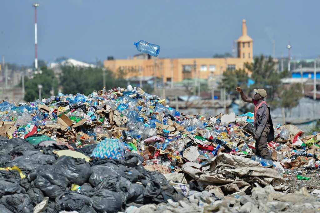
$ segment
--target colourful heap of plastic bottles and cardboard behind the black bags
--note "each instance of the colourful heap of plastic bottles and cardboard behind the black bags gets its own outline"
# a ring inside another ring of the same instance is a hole
[[[14,122],[14,129],[7,131],[9,138],[45,132],[52,140],[67,141],[76,148],[99,143],[106,137],[118,138],[127,152],[143,156],[146,165],[161,164],[172,170],[188,161],[205,164],[219,152],[250,156],[255,146],[254,139],[243,134],[237,122],[222,125],[219,117],[209,113],[183,115],[166,106],[164,99],[131,85],[126,89],[103,88],[88,96],[59,93],[18,106],[4,101],[0,111],[1,121]],[[110,112],[119,112],[124,122],[116,125],[110,120]],[[69,124],[62,126],[61,119],[67,119]],[[78,122],[81,125],[74,127]],[[50,131],[43,131],[48,128]],[[76,137],[65,134],[67,131]],[[281,131],[280,137],[287,138],[288,132]],[[195,159],[185,154],[190,146],[196,146]],[[281,148],[276,143],[272,146],[276,151]],[[279,160],[284,158],[280,155]],[[252,160],[263,166],[273,165],[255,155]]]

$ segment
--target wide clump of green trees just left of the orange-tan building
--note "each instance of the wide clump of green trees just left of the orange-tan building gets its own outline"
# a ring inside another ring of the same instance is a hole
[[[103,88],[103,72],[105,72],[106,89],[114,87],[126,87],[127,81],[124,76],[114,74],[110,70],[103,71],[103,68],[92,67],[61,67],[62,73],[60,76],[60,85],[65,94],[82,93],[88,95],[94,90]]]

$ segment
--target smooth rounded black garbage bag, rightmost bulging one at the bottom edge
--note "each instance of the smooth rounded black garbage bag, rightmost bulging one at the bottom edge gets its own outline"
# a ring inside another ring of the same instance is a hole
[[[92,207],[98,213],[116,213],[121,211],[121,196],[109,190],[101,190],[96,192],[92,197]]]

